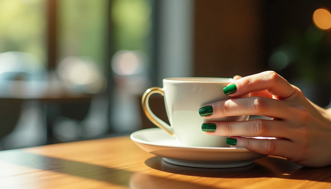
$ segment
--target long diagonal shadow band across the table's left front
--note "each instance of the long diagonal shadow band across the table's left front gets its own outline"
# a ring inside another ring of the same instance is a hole
[[[214,187],[208,187],[201,184],[190,183],[185,181],[174,180],[171,178],[158,177],[154,175],[147,175],[140,172],[131,172],[127,170],[119,170],[112,167],[106,167],[101,165],[93,165],[83,162],[76,162],[71,160],[65,160],[60,158],[47,157],[43,155],[24,152],[22,150],[8,150],[0,154],[0,162],[7,162],[10,164],[21,165],[24,167],[30,167],[35,169],[41,169],[46,171],[53,171],[64,173],[73,176],[79,176],[82,178],[93,179],[120,186],[127,186],[134,189],[176,189],[176,188],[190,188],[190,189],[214,189]],[[13,168],[9,167],[8,169]],[[17,166],[14,166],[17,170]],[[23,169],[24,170],[24,169]],[[3,170],[5,171],[5,170]],[[11,170],[8,170],[9,173]],[[6,172],[3,172],[4,174]],[[24,173],[26,175],[29,172]],[[36,172],[29,173],[31,178]],[[37,171],[37,173],[40,173]],[[22,174],[20,174],[22,175]],[[6,175],[6,176],[17,176]],[[36,182],[38,182],[40,174],[35,174]],[[19,179],[19,178],[18,178]],[[40,178],[42,179],[42,178]],[[41,182],[41,181],[40,181]],[[14,184],[14,183],[13,183]],[[24,183],[23,183],[24,184]],[[1,183],[0,183],[1,185]],[[1,187],[1,186],[0,186]],[[23,187],[23,186],[22,186]]]

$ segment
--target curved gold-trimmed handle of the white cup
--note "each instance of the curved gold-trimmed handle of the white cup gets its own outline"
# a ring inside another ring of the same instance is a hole
[[[149,103],[148,103],[149,97],[154,93],[158,93],[158,94],[161,94],[162,96],[164,96],[164,91],[161,87],[151,87],[151,88],[147,89],[145,91],[142,99],[141,99],[141,104],[142,104],[142,107],[143,107],[143,111],[144,111],[145,115],[147,116],[147,118],[152,123],[154,123],[156,126],[162,128],[162,129],[164,129],[170,135],[173,135],[172,127],[170,127],[170,125],[168,125],[162,119],[155,116],[155,114],[152,112],[151,108],[149,107]]]

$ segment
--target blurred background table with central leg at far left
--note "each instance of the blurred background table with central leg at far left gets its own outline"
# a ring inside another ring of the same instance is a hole
[[[86,93],[78,88],[60,82],[51,81],[2,81],[0,83],[1,99],[38,100],[43,103],[42,112],[45,116],[47,142],[53,144],[53,125],[57,118],[53,107],[60,103],[72,103],[91,100],[97,93]]]

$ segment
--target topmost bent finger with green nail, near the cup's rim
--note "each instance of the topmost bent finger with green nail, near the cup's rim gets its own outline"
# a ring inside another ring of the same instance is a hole
[[[274,71],[264,71],[237,79],[229,83],[223,90],[230,96],[242,96],[268,90],[269,93],[280,99],[288,98],[296,91],[289,82]]]

